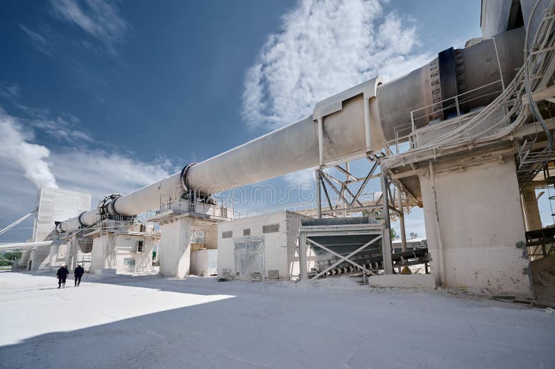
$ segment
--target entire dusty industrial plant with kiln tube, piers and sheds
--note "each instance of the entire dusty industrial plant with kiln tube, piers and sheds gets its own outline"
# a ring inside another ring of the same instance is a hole
[[[554,1],[484,0],[483,37],[465,47],[392,81],[377,75],[306,118],[91,210],[74,204],[48,237],[69,245],[71,258],[92,245],[95,272],[146,266],[153,222],[164,276],[210,274],[214,249],[218,273],[241,280],[356,272],[372,282],[418,262],[429,264],[432,285],[531,300],[534,270],[545,275],[555,264],[554,228],[542,228],[535,192],[555,183],[554,28]],[[367,165],[364,175],[350,170],[355,161]],[[235,219],[214,198],[306,168],[316,174],[315,209],[306,213],[315,223],[288,212]],[[372,179],[380,195],[363,199]],[[427,248],[409,250],[404,215],[415,206]],[[136,232],[137,214],[148,210]],[[391,219],[400,221],[399,253]],[[199,228],[204,246],[192,237]],[[421,280],[399,277],[407,287]]]

